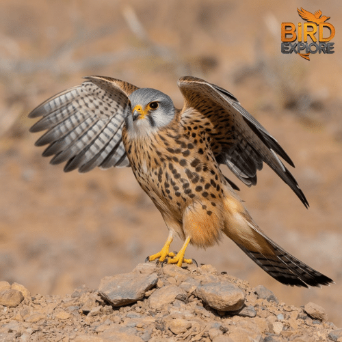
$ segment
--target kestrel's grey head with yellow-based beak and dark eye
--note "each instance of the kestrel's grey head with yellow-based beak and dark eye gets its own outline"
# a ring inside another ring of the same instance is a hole
[[[140,88],[130,96],[132,116],[129,126],[150,131],[166,126],[174,118],[176,109],[171,98],[151,88]]]

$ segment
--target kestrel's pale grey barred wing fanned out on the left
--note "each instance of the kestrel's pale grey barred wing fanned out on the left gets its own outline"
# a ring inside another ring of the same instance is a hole
[[[128,96],[138,88],[111,77],[86,77],[31,111],[29,118],[42,118],[31,132],[48,130],[36,146],[49,144],[43,156],[52,164],[67,161],[64,171],[88,172],[99,166],[129,166],[122,143],[122,125]]]

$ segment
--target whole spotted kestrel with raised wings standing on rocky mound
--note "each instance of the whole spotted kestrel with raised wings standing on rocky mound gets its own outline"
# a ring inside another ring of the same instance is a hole
[[[111,77],[85,77],[29,114],[29,130],[46,131],[36,146],[64,171],[129,167],[159,209],[169,234],[148,261],[182,266],[189,244],[214,246],[226,235],[267,274],[284,285],[320,287],[332,279],[269,239],[252,220],[224,164],[248,187],[266,163],[308,208],[297,181],[280,158],[293,161],[276,139],[224,88],[197,77],[178,81],[182,109],[153,88]],[[170,252],[174,237],[184,241]]]

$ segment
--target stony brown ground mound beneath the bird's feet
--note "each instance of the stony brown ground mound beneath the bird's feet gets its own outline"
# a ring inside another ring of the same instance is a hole
[[[64,296],[0,282],[0,304],[0,341],[342,341],[321,306],[289,306],[211,265],[139,264]]]

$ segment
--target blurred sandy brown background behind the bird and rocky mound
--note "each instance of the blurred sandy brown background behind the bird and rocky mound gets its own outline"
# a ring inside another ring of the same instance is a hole
[[[308,62],[280,53],[280,23],[302,22],[300,7],[331,17],[334,54]],[[280,302],[320,304],[342,326],[341,1],[1,0],[0,8],[0,280],[33,295],[71,293],[160,250],[166,226],[131,169],[65,174],[34,147],[27,114],[87,75],[157,88],[181,107],[176,81],[194,75],[237,96],[289,153],[308,210],[268,166],[257,187],[232,179],[267,235],[336,284],[285,287],[228,239],[187,256],[264,285]]]

